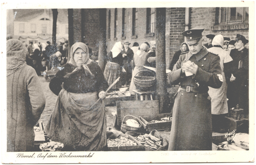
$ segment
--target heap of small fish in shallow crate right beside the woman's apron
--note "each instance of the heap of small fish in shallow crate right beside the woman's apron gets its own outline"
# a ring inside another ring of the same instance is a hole
[[[119,137],[116,139],[108,139],[108,147],[119,147],[119,146],[128,146],[128,145],[137,145],[136,142],[134,142],[131,139],[128,139],[126,137]]]

